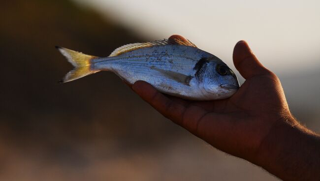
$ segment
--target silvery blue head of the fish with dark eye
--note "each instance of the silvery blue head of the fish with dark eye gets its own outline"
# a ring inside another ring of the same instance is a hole
[[[203,67],[202,88],[215,99],[230,97],[239,89],[239,82],[234,72],[220,59],[207,61]]]

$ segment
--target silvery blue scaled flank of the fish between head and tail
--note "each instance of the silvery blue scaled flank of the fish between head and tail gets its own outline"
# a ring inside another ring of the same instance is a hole
[[[186,52],[189,54],[186,55]],[[191,52],[194,53],[190,54]],[[116,58],[108,57],[96,60],[94,61],[94,67],[102,70],[112,69],[119,77],[130,84],[142,80],[151,83],[162,92],[187,97],[198,94],[199,90],[175,80],[167,79],[166,76],[152,70],[151,67],[155,66],[163,70],[194,76],[195,70],[193,70],[193,67],[197,62],[196,59],[200,60],[203,56],[194,47],[179,45],[147,47],[124,53]],[[207,55],[207,57],[209,56]],[[146,61],[148,58],[149,60]]]

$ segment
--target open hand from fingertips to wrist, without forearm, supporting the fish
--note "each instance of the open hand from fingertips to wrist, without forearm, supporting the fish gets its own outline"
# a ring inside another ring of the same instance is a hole
[[[246,81],[227,99],[184,100],[164,95],[143,81],[134,83],[132,89],[163,116],[217,149],[260,165],[280,178],[291,178],[288,174],[282,176],[281,169],[268,165],[270,157],[278,156],[268,152],[270,142],[277,141],[270,141],[274,136],[270,133],[274,134],[279,126],[302,127],[290,114],[281,83],[256,59],[245,41],[236,44],[233,62]],[[281,150],[280,147],[285,146],[275,145],[271,150]]]

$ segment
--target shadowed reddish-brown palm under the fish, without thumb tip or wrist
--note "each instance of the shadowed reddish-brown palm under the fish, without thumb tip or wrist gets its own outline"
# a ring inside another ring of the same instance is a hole
[[[271,118],[270,115],[274,114],[270,113],[279,112],[279,108],[284,107],[278,84],[275,76],[260,75],[246,80],[228,99],[186,101],[169,97],[172,102],[167,103],[164,115],[223,151],[240,155],[255,152],[270,129],[267,125],[272,125],[268,121],[280,118],[280,115]],[[175,104],[181,105],[182,113],[176,111],[179,106]],[[261,128],[261,125],[266,126]],[[239,152],[234,146],[238,147],[243,140],[246,140],[241,145],[243,151]],[[237,152],[233,152],[235,150]]]

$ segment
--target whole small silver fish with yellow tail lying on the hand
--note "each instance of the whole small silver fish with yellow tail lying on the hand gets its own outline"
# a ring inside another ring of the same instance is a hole
[[[129,85],[141,80],[162,93],[189,100],[228,98],[240,87],[235,73],[221,59],[181,35],[127,44],[103,58],[56,48],[74,66],[61,83],[111,71]]]

